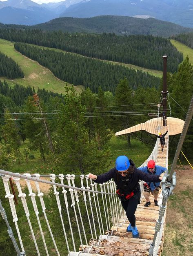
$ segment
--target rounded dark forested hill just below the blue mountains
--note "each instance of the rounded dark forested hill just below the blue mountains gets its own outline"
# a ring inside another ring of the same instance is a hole
[[[31,28],[61,30],[69,33],[115,33],[118,35],[152,35],[163,37],[193,30],[154,18],[140,19],[110,15],[93,18],[57,18],[46,23],[31,26]]]

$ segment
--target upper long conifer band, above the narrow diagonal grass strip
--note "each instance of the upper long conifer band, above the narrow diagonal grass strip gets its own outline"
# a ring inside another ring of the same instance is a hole
[[[41,30],[0,29],[0,38],[79,53],[91,58],[128,63],[163,70],[163,55],[169,55],[168,71],[177,71],[182,53],[168,40],[153,36],[116,36],[115,34],[69,34]]]

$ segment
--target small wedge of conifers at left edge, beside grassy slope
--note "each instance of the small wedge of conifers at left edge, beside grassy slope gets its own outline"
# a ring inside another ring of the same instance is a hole
[[[23,78],[24,73],[13,59],[0,51],[0,77],[1,76],[5,76],[10,79]]]

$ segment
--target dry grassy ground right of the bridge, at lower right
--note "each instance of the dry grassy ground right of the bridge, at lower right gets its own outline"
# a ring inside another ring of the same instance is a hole
[[[177,185],[169,197],[162,256],[193,255],[193,169],[178,167]]]

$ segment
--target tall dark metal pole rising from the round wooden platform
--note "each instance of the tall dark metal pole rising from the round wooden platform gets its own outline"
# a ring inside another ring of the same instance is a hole
[[[163,77],[164,77],[164,82],[163,82],[163,91],[162,91],[162,105],[163,105],[163,126],[167,126],[167,58],[168,56],[163,56],[163,61],[164,61],[164,72],[163,72]]]

